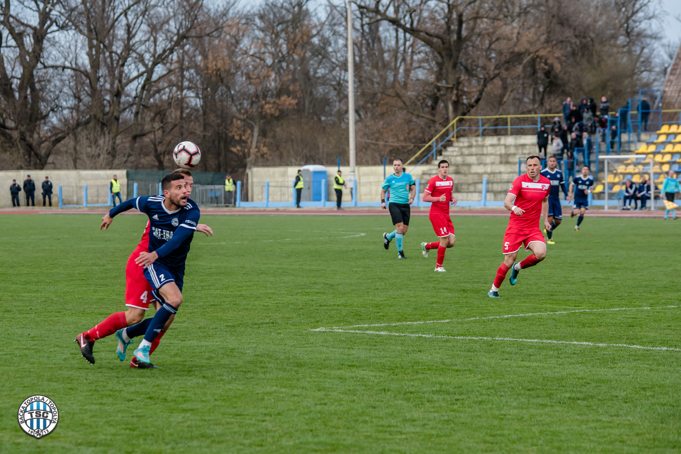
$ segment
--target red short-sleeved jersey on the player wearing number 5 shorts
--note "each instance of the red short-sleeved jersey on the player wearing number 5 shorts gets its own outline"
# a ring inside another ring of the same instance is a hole
[[[535,230],[539,228],[539,217],[541,217],[541,203],[551,192],[551,181],[543,175],[539,175],[539,180],[535,181],[524,174],[513,180],[513,185],[509,189],[509,194],[516,196],[513,205],[524,209],[522,216],[518,216],[511,211],[509,228],[518,230]]]

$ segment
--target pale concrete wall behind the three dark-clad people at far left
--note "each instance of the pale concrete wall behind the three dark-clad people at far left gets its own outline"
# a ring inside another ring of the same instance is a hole
[[[24,170],[24,171],[0,171],[0,207],[12,207],[10,186],[12,179],[22,187],[19,193],[21,206],[26,205],[26,195],[23,190],[24,180],[27,175],[35,180],[35,205],[42,205],[42,182],[45,177],[52,181],[52,206],[59,203],[59,185],[64,193],[65,204],[82,204],[82,186],[88,185],[88,203],[106,203],[108,200],[109,181],[113,175],[118,176],[121,182],[121,197],[127,198],[127,177],[125,169],[108,170]]]

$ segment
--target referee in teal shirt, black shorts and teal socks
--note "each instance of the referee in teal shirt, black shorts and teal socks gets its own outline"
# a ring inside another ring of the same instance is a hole
[[[397,258],[406,258],[402,251],[402,236],[407,233],[409,228],[409,217],[411,209],[409,205],[414,203],[416,195],[416,183],[409,173],[404,173],[402,160],[396,158],[392,161],[394,174],[390,175],[381,185],[381,207],[385,209],[385,192],[390,190],[390,217],[395,230],[390,233],[383,233],[383,247],[390,247],[390,241],[395,239],[397,243]]]

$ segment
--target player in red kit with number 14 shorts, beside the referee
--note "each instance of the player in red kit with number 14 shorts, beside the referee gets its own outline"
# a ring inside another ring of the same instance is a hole
[[[454,224],[452,217],[449,217],[449,204],[456,205],[456,198],[452,196],[454,189],[454,179],[447,176],[449,173],[449,162],[441,160],[437,163],[437,175],[428,180],[428,186],[424,190],[424,202],[430,202],[428,218],[432,224],[432,230],[439,237],[440,241],[432,243],[421,243],[421,249],[425,258],[428,258],[428,249],[437,249],[437,262],[435,270],[444,272],[443,263],[445,262],[445,250],[447,247],[454,246],[456,236],[454,235]]]

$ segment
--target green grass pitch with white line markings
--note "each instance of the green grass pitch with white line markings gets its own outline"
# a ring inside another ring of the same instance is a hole
[[[351,328],[681,348],[678,222],[569,217],[548,258],[487,292],[505,217],[453,217],[434,273],[428,217],[407,260],[384,216],[204,215],[185,302],[152,356],[97,364],[74,337],[125,310],[127,257],[146,218],[3,215],[1,453],[677,453],[681,351],[311,331],[402,321],[631,309]],[[526,256],[525,253],[520,255]],[[139,339],[138,339],[139,341]],[[129,356],[130,357],[129,353]],[[18,427],[23,399],[59,406],[57,430]]]

